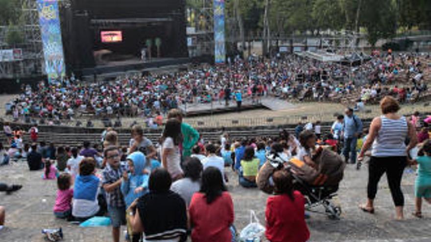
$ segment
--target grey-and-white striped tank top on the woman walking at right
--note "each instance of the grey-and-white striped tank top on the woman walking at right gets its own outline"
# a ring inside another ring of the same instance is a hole
[[[381,119],[382,127],[374,140],[371,155],[375,157],[407,156],[405,140],[408,126],[406,117],[393,120],[382,115]]]

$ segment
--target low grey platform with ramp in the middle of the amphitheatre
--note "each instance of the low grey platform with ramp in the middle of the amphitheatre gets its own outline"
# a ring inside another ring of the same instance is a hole
[[[245,99],[242,101],[240,110],[238,110],[237,102],[234,100],[231,100],[231,102],[229,103],[229,106],[225,106],[224,100],[221,103],[219,103],[218,101],[215,101],[213,103],[204,103],[204,104],[187,104],[187,106],[180,105],[180,109],[186,113],[187,117],[238,112],[238,111],[245,111],[245,110],[259,110],[259,109],[276,111],[276,110],[293,109],[295,107],[296,106],[294,104],[288,103],[287,101],[281,100],[276,97],[263,97],[259,103],[252,103],[251,99]]]

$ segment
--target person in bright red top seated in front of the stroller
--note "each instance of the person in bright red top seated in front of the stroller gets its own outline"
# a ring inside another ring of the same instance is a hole
[[[306,242],[310,231],[304,219],[304,196],[293,191],[292,177],[285,170],[272,175],[275,196],[266,201],[265,236],[270,242]]]

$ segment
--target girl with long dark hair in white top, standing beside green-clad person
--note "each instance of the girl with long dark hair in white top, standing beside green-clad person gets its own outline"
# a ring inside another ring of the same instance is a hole
[[[171,118],[166,122],[162,135],[162,166],[168,170],[174,181],[183,177],[179,149],[181,141],[181,123]]]

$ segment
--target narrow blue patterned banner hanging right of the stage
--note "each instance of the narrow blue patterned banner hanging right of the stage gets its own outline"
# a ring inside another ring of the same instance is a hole
[[[214,0],[214,56],[216,64],[226,60],[226,47],[224,41],[224,0]]]

